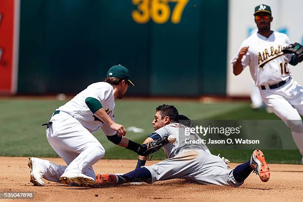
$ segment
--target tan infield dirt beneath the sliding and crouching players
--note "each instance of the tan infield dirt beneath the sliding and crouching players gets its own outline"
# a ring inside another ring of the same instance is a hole
[[[60,158],[44,158],[65,165]],[[108,188],[69,187],[46,182],[44,187],[33,186],[29,180],[26,157],[0,157],[0,192],[34,192],[34,200],[25,201],[215,201],[215,202],[303,202],[303,165],[269,164],[270,180],[261,182],[251,174],[239,187],[200,185],[175,179],[152,185],[120,185]],[[94,165],[96,173],[125,173],[136,166],[136,160],[101,159]],[[157,161],[148,162],[148,165]],[[230,163],[234,168],[237,164]],[[18,200],[21,201],[21,200]]]

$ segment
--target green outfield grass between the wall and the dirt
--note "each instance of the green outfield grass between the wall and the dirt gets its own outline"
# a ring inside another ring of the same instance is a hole
[[[55,157],[57,154],[46,139],[46,127],[41,124],[49,121],[52,112],[66,101],[56,100],[0,100],[0,155],[2,156],[44,156]],[[237,119],[279,119],[275,114],[268,114],[264,109],[254,111],[249,102],[201,103],[199,101],[172,100],[122,100],[116,102],[116,122],[126,128],[136,126],[145,133],[128,132],[127,137],[136,142],[143,142],[152,132],[152,119],[155,107],[159,104],[174,104],[180,113],[194,120],[237,120]],[[104,158],[136,159],[134,152],[122,149],[110,143],[99,131],[94,134],[105,148]],[[213,150],[232,162],[243,162],[250,158],[253,150]],[[270,163],[300,163],[298,150],[263,151]],[[159,151],[153,159],[164,159]]]

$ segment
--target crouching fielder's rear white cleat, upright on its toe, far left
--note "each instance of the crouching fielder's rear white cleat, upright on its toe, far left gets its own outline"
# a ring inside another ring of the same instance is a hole
[[[28,167],[30,168],[31,180],[30,182],[34,186],[43,186],[45,183],[42,181],[43,171],[41,166],[39,166],[38,158],[29,157]]]

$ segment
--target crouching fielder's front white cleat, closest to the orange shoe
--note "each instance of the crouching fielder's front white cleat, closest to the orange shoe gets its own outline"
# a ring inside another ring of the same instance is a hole
[[[89,187],[95,184],[94,178],[84,175],[82,173],[63,173],[59,181],[65,185],[79,187]]]

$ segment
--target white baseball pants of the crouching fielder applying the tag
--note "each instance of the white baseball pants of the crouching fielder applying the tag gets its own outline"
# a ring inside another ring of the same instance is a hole
[[[67,166],[41,160],[43,178],[59,182],[63,173],[83,173],[96,180],[92,165],[105,153],[100,142],[78,120],[63,111],[52,116],[50,121],[52,124],[46,131],[47,139]]]

